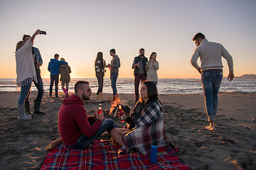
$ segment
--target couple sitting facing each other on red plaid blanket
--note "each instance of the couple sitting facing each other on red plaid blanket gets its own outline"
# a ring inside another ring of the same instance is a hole
[[[115,128],[112,119],[105,119],[103,114],[87,116],[84,102],[90,100],[92,90],[89,82],[78,81],[75,94],[65,98],[58,115],[60,137],[70,149],[83,149],[97,140],[105,130],[114,142],[122,146],[119,154],[137,151],[149,154],[151,145],[164,147],[164,115],[158,100],[156,85],[153,81],[144,81],[141,100],[137,102],[130,115],[125,115],[127,125]]]

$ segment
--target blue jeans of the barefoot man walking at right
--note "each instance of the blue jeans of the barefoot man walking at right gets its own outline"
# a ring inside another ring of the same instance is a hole
[[[222,78],[223,73],[218,69],[207,70],[207,72],[203,72],[201,75],[206,113],[209,122],[215,121],[218,108],[218,90],[220,89]]]

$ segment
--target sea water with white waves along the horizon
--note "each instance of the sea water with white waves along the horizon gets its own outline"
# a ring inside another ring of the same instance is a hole
[[[97,92],[97,79],[71,79],[70,92],[74,92],[75,82],[78,80],[89,81],[92,93]],[[50,79],[43,79],[45,91],[50,89]],[[59,91],[62,91],[59,83]],[[53,86],[53,90],[55,87]],[[159,94],[202,94],[201,79],[159,79],[157,84]],[[0,79],[0,91],[19,91],[16,87],[16,79]],[[36,86],[32,83],[31,91],[36,91]],[[256,79],[234,79],[228,81],[223,78],[220,91],[238,93],[256,93]],[[109,78],[104,79],[103,93],[112,94],[111,82]],[[118,94],[134,94],[134,79],[117,79]]]

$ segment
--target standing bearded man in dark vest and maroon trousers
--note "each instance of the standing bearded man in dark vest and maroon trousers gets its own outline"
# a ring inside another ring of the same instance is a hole
[[[139,101],[139,82],[146,80],[146,62],[148,62],[148,59],[144,54],[144,48],[139,49],[139,56],[134,57],[134,62],[132,63],[132,69],[134,69],[134,103]]]

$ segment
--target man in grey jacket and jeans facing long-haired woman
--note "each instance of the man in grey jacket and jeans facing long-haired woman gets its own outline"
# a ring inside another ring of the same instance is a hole
[[[116,51],[114,49],[110,50],[110,55],[113,57],[110,64],[107,67],[110,68],[110,79],[111,79],[111,87],[113,90],[113,98],[114,101],[117,98],[117,77],[119,72],[119,67],[121,67],[120,59],[118,55],[115,54]]]

